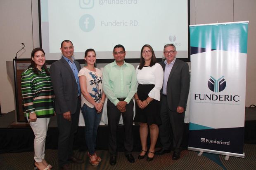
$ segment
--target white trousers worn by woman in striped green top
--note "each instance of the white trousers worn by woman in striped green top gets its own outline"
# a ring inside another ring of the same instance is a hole
[[[50,117],[37,118],[36,122],[29,123],[35,135],[34,159],[36,162],[42,162],[42,159],[45,158],[45,140],[46,140],[46,133],[47,133],[49,122],[50,122]]]

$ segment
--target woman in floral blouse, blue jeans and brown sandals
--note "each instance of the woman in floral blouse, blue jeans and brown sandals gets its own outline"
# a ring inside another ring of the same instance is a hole
[[[79,73],[82,92],[82,113],[85,119],[85,141],[88,156],[93,166],[99,165],[101,158],[95,152],[97,129],[102,116],[105,94],[102,86],[102,72],[95,68],[96,54],[94,49],[85,51],[86,66]]]

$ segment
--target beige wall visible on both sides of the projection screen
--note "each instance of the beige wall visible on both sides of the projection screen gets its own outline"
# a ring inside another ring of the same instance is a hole
[[[191,24],[249,21],[246,106],[256,104],[255,8],[256,0],[190,0]],[[19,58],[29,58],[39,46],[38,0],[0,0],[0,16],[0,103],[2,113],[7,113],[15,107],[12,77],[7,75],[12,69],[7,69],[6,63],[12,61],[21,42],[26,47]]]

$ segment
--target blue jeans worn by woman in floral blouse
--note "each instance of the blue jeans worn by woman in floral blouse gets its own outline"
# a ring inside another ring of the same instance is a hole
[[[95,107],[88,107],[85,103],[82,107],[83,118],[85,119],[85,142],[90,155],[93,155],[96,148],[97,130],[100,124],[102,113],[97,113]]]

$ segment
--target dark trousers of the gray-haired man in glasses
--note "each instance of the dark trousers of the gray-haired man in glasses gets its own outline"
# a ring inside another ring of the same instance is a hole
[[[162,124],[159,126],[161,144],[163,149],[173,149],[174,151],[180,151],[180,145],[182,143],[184,133],[183,122],[185,113],[171,111],[168,108],[167,98],[165,95],[162,95],[161,100],[160,116]]]

